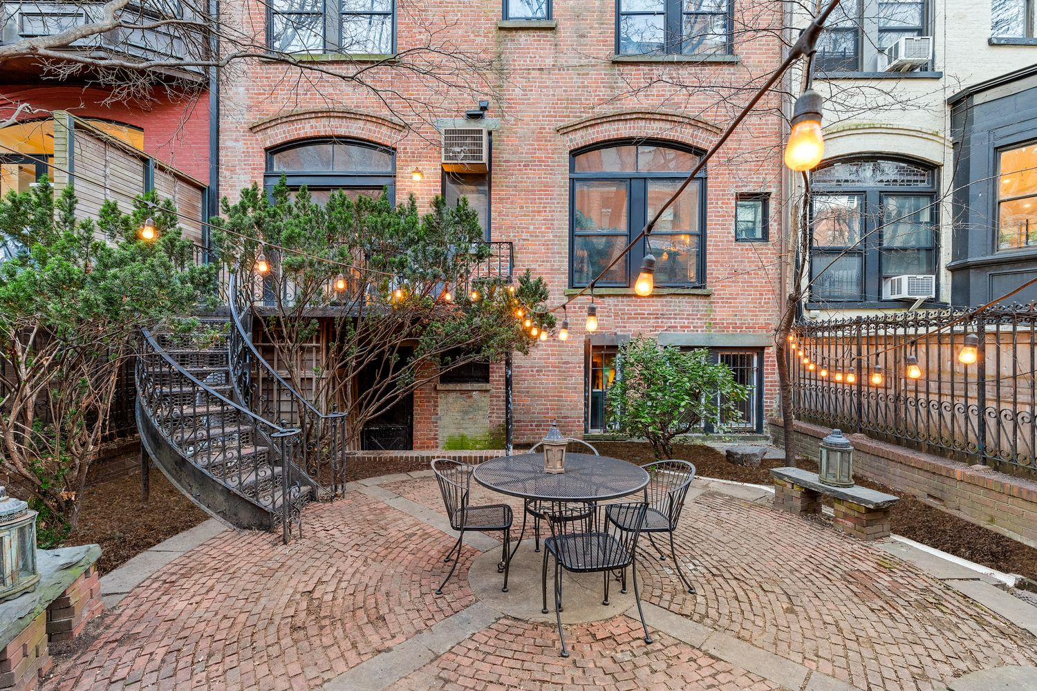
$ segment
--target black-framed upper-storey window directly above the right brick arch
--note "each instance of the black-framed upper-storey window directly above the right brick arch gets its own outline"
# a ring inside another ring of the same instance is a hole
[[[617,55],[729,55],[731,0],[616,0]]]

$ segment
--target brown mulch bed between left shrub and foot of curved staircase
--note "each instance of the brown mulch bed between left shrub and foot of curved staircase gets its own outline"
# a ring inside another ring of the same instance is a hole
[[[101,545],[97,569],[104,575],[208,518],[158,468],[151,469],[150,481],[147,503],[140,500],[139,474],[88,487],[83,492],[79,526],[63,546]]]

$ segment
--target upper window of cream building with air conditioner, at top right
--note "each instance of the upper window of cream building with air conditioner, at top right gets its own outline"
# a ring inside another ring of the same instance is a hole
[[[881,71],[886,62],[879,54],[890,46],[931,35],[929,12],[927,0],[842,0],[818,38],[815,68],[821,76]]]

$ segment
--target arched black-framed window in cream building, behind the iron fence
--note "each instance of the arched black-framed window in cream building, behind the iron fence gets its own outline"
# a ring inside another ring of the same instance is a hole
[[[811,189],[812,301],[878,303],[888,299],[885,279],[935,275],[932,167],[897,159],[837,161],[817,169]]]

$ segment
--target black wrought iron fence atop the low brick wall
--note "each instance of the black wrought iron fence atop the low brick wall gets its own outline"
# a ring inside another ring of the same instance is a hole
[[[979,315],[952,310],[798,323],[790,357],[795,416],[965,462],[1033,469],[1035,323],[1033,303]],[[970,334],[978,352],[963,364],[958,355]],[[906,376],[912,356],[917,378]]]

